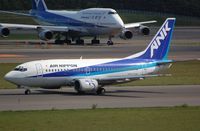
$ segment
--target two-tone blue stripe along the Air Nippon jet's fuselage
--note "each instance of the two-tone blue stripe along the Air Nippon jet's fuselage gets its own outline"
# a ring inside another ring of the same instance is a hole
[[[155,60],[134,60],[134,59],[123,59],[114,62],[108,62],[104,64],[82,67],[78,69],[71,69],[67,71],[54,72],[43,74],[43,77],[73,77],[73,76],[95,76],[110,73],[125,72],[130,70],[139,70],[144,68],[151,68],[158,66],[157,62],[169,62],[155,61]],[[87,73],[89,72],[89,73]],[[37,76],[33,76],[37,77]]]

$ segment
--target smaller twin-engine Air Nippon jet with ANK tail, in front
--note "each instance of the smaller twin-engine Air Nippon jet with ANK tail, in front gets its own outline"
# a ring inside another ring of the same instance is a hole
[[[5,80],[18,87],[73,86],[78,93],[102,94],[105,85],[159,76],[173,62],[167,57],[174,24],[175,18],[168,18],[144,51],[126,58],[32,61],[17,66]]]

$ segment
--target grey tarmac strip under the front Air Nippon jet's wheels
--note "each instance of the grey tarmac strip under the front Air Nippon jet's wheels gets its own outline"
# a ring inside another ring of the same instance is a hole
[[[106,87],[106,94],[77,95],[73,88],[59,90],[0,90],[0,111],[199,106],[200,85]]]

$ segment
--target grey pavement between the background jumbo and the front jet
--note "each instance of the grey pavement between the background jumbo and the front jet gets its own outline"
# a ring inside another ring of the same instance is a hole
[[[79,59],[81,56],[83,59],[122,58],[144,50],[155,32],[156,29],[150,36],[135,36],[132,40],[115,38],[113,39],[116,43],[114,46],[105,44],[96,46],[18,45],[18,41],[0,40],[0,63],[22,63],[41,59]],[[200,27],[177,27],[172,39],[169,58],[174,60],[199,59],[199,34]],[[107,39],[103,38],[101,41],[106,43]],[[90,42],[90,39],[86,39],[86,42]],[[9,57],[5,57],[6,55]]]

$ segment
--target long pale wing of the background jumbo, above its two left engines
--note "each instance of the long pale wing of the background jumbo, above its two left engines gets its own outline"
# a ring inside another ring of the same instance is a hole
[[[10,30],[49,30],[52,32],[68,32],[69,29],[66,26],[42,26],[42,25],[25,25],[25,24],[7,24],[0,23],[0,27],[8,28]]]

